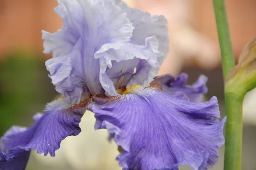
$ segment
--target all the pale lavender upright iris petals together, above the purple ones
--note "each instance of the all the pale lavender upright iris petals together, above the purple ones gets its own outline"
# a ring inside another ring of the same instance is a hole
[[[53,53],[46,66],[56,91],[75,104],[90,94],[117,95],[121,77],[124,86],[149,85],[169,50],[163,16],[151,17],[120,0],[58,3],[64,26],[53,34],[43,31],[44,53]]]

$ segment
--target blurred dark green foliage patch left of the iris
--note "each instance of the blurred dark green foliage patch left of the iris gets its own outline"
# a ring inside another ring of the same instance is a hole
[[[0,136],[12,125],[31,125],[32,115],[55,95],[43,57],[22,51],[4,56],[0,60]]]

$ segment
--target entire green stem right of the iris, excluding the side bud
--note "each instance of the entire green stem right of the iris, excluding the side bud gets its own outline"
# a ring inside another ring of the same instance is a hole
[[[235,67],[224,0],[213,0],[224,82]],[[242,148],[242,105],[244,95],[227,92],[225,88],[225,109],[227,114],[224,170],[241,169]]]

